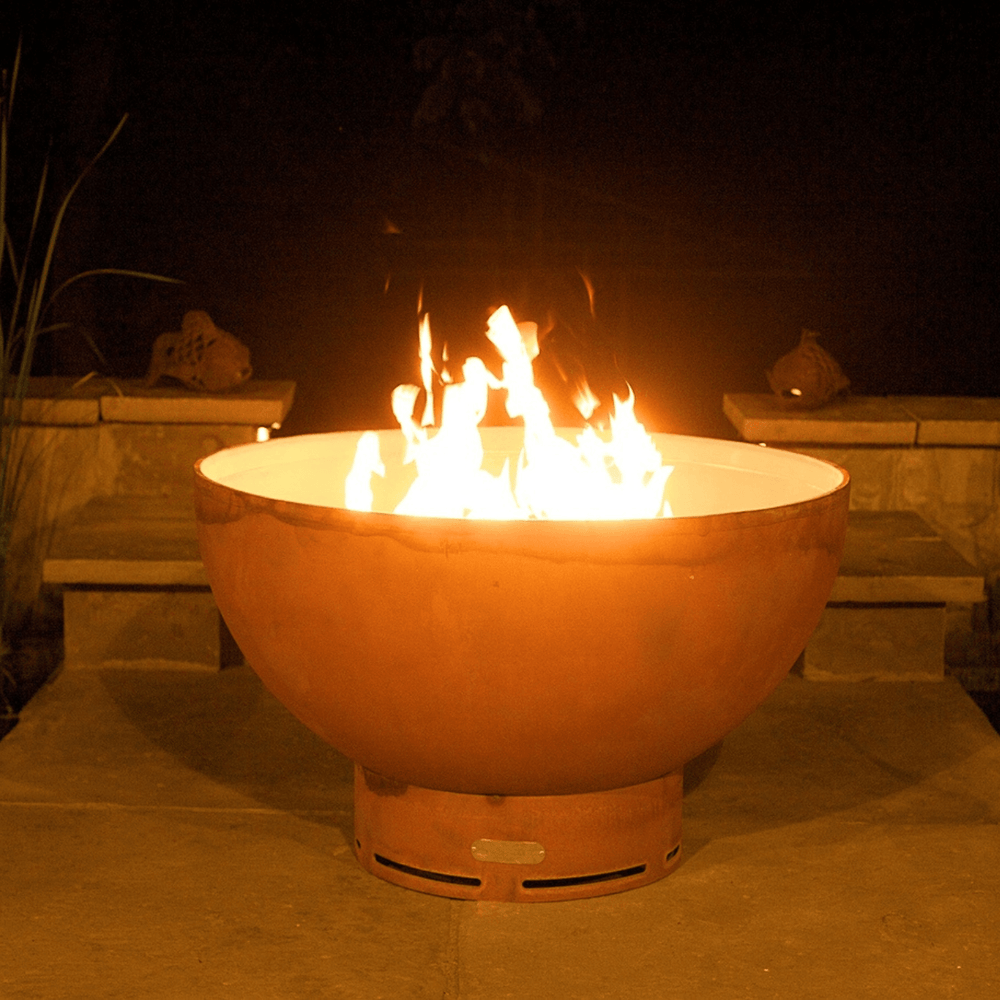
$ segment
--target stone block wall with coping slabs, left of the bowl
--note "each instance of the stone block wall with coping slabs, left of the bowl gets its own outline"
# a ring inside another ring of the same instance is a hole
[[[5,586],[14,614],[37,599],[58,524],[95,497],[190,506],[194,463],[280,425],[294,392],[293,382],[251,381],[204,395],[129,380],[32,379],[12,454],[17,514]]]

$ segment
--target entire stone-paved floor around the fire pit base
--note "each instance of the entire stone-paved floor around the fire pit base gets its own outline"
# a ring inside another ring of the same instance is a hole
[[[0,743],[0,995],[1000,989],[1000,737],[952,682],[789,678],[688,768],[681,867],[598,899],[381,882],[350,773],[246,668],[57,678]]]

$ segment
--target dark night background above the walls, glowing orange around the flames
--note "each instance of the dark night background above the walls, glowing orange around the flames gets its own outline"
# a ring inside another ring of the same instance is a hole
[[[299,383],[286,431],[386,426],[423,283],[453,357],[491,305],[551,313],[547,349],[599,390],[624,374],[655,429],[727,433],[722,393],[766,390],[803,326],[858,393],[1000,394],[985,9],[18,3],[0,58],[22,34],[23,176],[51,140],[64,189],[130,116],[62,273],[185,282],[62,303],[108,374],[143,374],[202,308],[258,377]],[[82,343],[37,370],[94,368]]]

